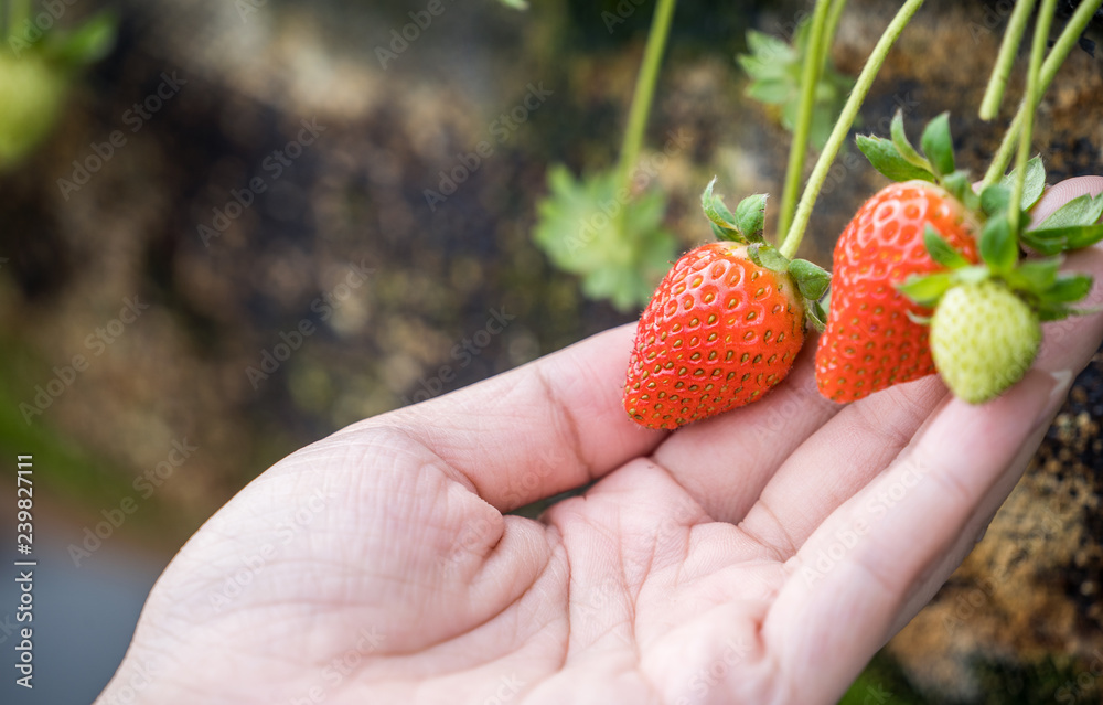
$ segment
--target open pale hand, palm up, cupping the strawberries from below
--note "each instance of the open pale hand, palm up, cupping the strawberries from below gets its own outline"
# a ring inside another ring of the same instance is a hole
[[[1099,278],[1103,250],[1067,268]],[[97,703],[836,702],[978,540],[1103,314],[1047,324],[984,406],[934,376],[832,404],[813,343],[762,402],[675,432],[621,408],[632,335],[272,467],[165,569]]]

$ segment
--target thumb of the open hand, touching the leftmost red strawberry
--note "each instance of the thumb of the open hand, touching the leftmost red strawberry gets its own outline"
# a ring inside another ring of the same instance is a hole
[[[430,402],[361,421],[432,450],[501,511],[586,484],[650,452],[665,432],[621,406],[634,325],[622,325],[512,372]]]

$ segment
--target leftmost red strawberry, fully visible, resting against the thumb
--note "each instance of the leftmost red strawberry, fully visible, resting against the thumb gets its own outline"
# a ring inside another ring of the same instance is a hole
[[[785,378],[803,343],[790,275],[751,261],[747,245],[702,245],[640,318],[624,408],[643,426],[676,428],[743,406]]]

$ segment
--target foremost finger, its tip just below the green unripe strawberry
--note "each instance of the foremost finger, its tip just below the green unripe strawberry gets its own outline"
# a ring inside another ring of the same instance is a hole
[[[792,672],[823,663],[816,685],[846,687],[891,635],[913,588],[952,551],[1039,424],[1052,388],[1048,375],[1032,372],[983,407],[951,399],[906,457],[810,537],[763,623],[763,639]]]

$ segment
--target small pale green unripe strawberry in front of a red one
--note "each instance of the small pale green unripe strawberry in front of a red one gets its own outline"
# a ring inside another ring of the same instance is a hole
[[[987,279],[943,295],[931,319],[931,354],[954,396],[982,404],[1022,378],[1038,354],[1038,314]]]

